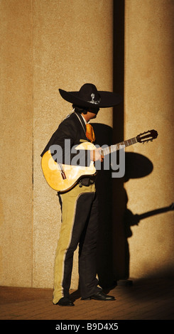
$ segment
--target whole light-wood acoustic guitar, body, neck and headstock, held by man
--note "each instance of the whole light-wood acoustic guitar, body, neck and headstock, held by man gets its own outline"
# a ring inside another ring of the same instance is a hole
[[[126,141],[121,141],[118,144],[107,146],[101,149],[101,155],[106,156],[109,153],[114,151],[118,151],[122,149],[123,146],[130,146],[136,143],[145,143],[148,141],[153,141],[158,136],[158,132],[156,130],[150,130],[143,132],[143,134],[138,134],[138,136],[131,138]],[[76,147],[76,150],[94,150],[96,147],[94,144],[86,141]],[[46,151],[43,154],[41,160],[41,166],[43,170],[43,175],[45,176],[45,180],[48,185],[50,185],[53,190],[56,190],[60,193],[65,193],[67,190],[70,190],[74,187],[80,178],[85,176],[93,176],[97,173],[96,168],[94,166],[94,161],[90,161],[89,166],[72,166],[65,165],[62,163],[57,163],[53,159],[50,150]]]

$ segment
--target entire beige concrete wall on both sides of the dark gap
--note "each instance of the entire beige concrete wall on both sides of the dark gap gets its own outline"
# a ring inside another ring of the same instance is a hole
[[[52,288],[60,207],[43,178],[40,153],[71,111],[58,88],[93,82],[112,90],[113,2],[1,0],[0,13],[0,284]],[[153,164],[148,176],[129,177],[121,188],[135,215],[173,202],[173,1],[125,1],[124,95],[124,139],[153,128],[159,133],[153,143],[127,149]],[[110,128],[112,109],[101,110],[97,122]],[[171,276],[173,212],[151,215],[131,231],[130,275]],[[120,254],[114,271],[124,278]],[[77,281],[76,253],[72,288]]]

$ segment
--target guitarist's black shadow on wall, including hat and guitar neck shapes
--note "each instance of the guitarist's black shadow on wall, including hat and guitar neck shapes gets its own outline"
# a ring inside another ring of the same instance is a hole
[[[97,144],[112,144],[112,128],[105,124],[92,124],[97,137]],[[115,143],[116,144],[116,143]],[[153,171],[153,163],[139,153],[125,152],[125,175],[112,178],[112,168],[102,166],[97,171],[97,193],[99,197],[99,241],[97,245],[97,273],[99,284],[103,288],[115,286],[117,281],[129,279],[129,238],[131,226],[146,217],[174,209],[159,208],[134,215],[127,208],[128,195],[124,183],[130,179],[144,178]]]

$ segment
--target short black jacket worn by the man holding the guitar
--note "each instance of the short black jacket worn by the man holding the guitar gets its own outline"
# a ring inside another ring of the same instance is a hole
[[[89,151],[75,150],[74,146],[89,141],[86,137],[86,125],[81,114],[73,112],[64,119],[51,136],[41,156],[50,149],[56,162],[80,166],[89,166]],[[67,141],[65,141],[67,139]],[[65,146],[65,143],[67,144]]]

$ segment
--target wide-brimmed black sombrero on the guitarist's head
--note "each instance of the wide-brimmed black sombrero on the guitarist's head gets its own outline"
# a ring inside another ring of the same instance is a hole
[[[65,90],[59,90],[59,92],[63,99],[77,107],[89,107],[91,109],[109,108],[122,101],[119,94],[98,91],[97,87],[91,83],[82,85],[79,92],[66,92]]]

